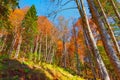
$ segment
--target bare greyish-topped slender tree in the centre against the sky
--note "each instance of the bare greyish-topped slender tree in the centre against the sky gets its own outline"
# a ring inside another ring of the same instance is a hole
[[[65,20],[64,17],[59,17],[59,31],[61,35],[61,41],[63,43],[63,51],[62,51],[62,64],[63,67],[66,68],[66,58],[67,58],[67,41],[69,38],[69,29],[68,29],[68,20]]]

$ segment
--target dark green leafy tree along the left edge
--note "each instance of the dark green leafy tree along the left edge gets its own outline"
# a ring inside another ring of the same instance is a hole
[[[2,47],[1,51],[3,49],[8,49],[9,43],[7,42],[9,40],[8,35],[11,34],[11,24],[9,22],[9,15],[12,10],[14,10],[18,6],[18,0],[0,0],[0,30],[1,34],[3,34],[0,39]],[[5,33],[5,34],[4,34]]]

